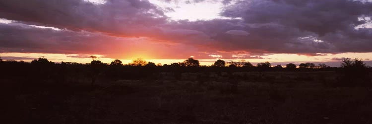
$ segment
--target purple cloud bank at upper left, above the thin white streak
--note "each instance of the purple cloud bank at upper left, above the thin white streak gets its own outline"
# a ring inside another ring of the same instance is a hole
[[[74,31],[138,36],[156,31],[165,15],[147,0],[0,0],[0,17]]]

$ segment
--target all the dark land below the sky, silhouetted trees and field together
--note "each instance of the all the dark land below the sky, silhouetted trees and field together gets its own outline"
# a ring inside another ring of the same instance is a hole
[[[372,124],[371,68],[1,61],[3,124]]]

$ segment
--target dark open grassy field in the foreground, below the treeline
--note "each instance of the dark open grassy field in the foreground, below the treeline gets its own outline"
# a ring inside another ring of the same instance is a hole
[[[34,82],[1,78],[7,124],[371,124],[372,89],[336,73],[160,73]],[[371,76],[371,74],[370,74]]]

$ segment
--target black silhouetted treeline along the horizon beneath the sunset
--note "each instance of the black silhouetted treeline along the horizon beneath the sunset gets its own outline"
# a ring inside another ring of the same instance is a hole
[[[211,66],[200,66],[199,61],[189,58],[184,62],[171,64],[155,64],[136,59],[128,64],[120,60],[114,60],[110,64],[103,63],[95,56],[91,56],[92,62],[81,64],[76,62],[54,63],[46,58],[39,58],[32,62],[3,61],[0,60],[1,78],[14,80],[28,80],[33,82],[81,82],[87,81],[94,85],[97,78],[103,80],[119,79],[149,79],[161,78],[161,73],[172,73],[175,79],[181,79],[185,72],[216,72],[221,75],[226,72],[248,71],[334,71],[338,73],[337,86],[369,86],[371,78],[369,73],[372,68],[359,59],[345,59],[340,67],[330,67],[325,64],[315,65],[313,63],[301,63],[297,67],[294,63],[282,65],[271,65],[270,62],[261,62],[256,65],[241,60],[239,62],[225,62],[217,60]],[[357,82],[357,83],[354,83]]]

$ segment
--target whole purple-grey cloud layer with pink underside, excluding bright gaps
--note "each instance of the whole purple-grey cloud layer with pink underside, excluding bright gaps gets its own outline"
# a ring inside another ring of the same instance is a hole
[[[231,0],[223,2],[228,4]],[[106,44],[118,44],[111,42],[113,36],[149,37],[158,42],[194,46],[223,57],[231,57],[234,51],[245,51],[247,57],[264,53],[317,56],[316,53],[372,52],[372,30],[355,29],[368,21],[359,17],[372,16],[370,2],[240,0],[221,12],[222,16],[235,19],[193,22],[169,21],[164,11],[172,9],[159,8],[147,0],[107,0],[105,4],[83,0],[0,0],[1,18],[65,29],[53,31],[24,24],[1,24],[0,52],[32,49],[73,53],[102,49],[105,53],[105,47],[110,47]],[[98,44],[104,47],[95,48]]]

